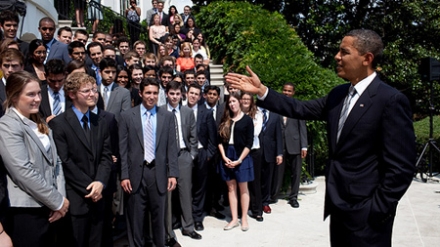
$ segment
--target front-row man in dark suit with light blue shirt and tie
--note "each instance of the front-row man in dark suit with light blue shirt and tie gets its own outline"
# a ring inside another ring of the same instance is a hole
[[[153,242],[164,246],[167,191],[174,190],[179,177],[176,119],[166,108],[156,106],[159,85],[155,79],[143,79],[140,92],[142,104],[123,112],[119,123],[128,241],[130,246],[144,246],[148,209]]]

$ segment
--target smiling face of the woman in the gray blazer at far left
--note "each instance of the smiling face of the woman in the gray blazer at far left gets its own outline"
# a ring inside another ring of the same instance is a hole
[[[41,103],[41,88],[37,81],[27,83],[20,95],[12,99],[15,109],[23,116],[29,118],[31,114],[37,114]]]

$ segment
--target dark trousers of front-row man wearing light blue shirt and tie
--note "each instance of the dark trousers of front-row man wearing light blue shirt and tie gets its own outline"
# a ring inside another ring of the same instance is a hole
[[[143,168],[142,181],[139,189],[128,195],[125,207],[127,219],[127,235],[130,246],[144,246],[145,233],[149,232],[146,223],[147,210],[151,215],[153,242],[156,247],[165,246],[165,211],[166,195],[157,189],[156,168]],[[165,182],[165,181],[160,181]]]

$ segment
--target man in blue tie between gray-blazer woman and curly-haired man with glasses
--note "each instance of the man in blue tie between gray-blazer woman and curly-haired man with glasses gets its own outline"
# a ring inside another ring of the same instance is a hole
[[[72,107],[72,101],[64,94],[64,81],[66,74],[64,62],[52,59],[44,65],[47,85],[41,86],[40,114],[49,123],[54,117]]]

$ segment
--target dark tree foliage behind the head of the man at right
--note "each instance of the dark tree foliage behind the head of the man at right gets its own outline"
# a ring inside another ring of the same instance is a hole
[[[314,59],[334,68],[334,55],[345,33],[367,28],[382,36],[385,51],[380,76],[405,93],[416,118],[429,112],[428,83],[422,81],[420,60],[440,60],[440,1],[437,0],[242,0],[281,13]],[[213,1],[193,1],[206,4]],[[438,84],[435,91],[440,90]],[[432,102],[440,109],[440,98]]]

